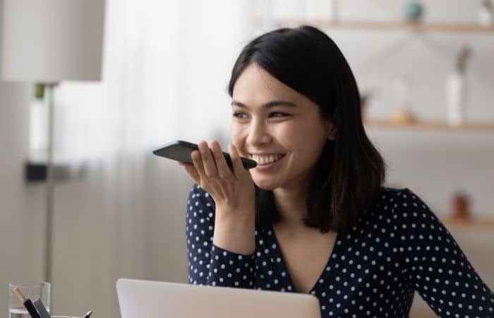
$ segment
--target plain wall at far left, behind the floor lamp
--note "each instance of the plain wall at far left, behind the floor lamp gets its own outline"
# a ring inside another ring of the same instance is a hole
[[[0,1],[0,25],[1,8]],[[7,317],[8,314],[8,283],[39,282],[44,273],[43,189],[27,186],[23,177],[23,163],[28,153],[28,94],[28,86],[0,81],[0,316],[2,317]]]

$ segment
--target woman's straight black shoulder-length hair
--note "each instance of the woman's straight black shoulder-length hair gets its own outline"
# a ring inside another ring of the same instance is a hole
[[[321,232],[353,225],[377,199],[385,162],[363,128],[359,88],[347,60],[325,33],[308,25],[280,28],[256,37],[236,59],[228,86],[252,63],[315,102],[333,123],[315,164],[303,219]],[[271,191],[256,187],[256,223],[268,228],[281,220]]]

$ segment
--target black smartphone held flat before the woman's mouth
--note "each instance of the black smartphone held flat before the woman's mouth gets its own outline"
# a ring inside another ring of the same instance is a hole
[[[167,143],[166,145],[152,151],[155,155],[159,155],[160,157],[169,158],[172,160],[181,161],[183,163],[192,164],[191,153],[192,151],[199,150],[198,145],[195,143],[189,143],[187,141],[171,141],[171,143]],[[223,152],[225,160],[227,160],[227,164],[232,169],[231,158],[229,153]],[[242,160],[243,167],[246,169],[251,169],[258,165],[254,160],[248,158],[240,158]]]

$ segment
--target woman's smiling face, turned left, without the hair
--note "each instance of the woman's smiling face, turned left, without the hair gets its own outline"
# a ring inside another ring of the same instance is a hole
[[[274,190],[305,184],[330,138],[332,124],[318,105],[256,64],[237,79],[231,102],[231,139],[252,158],[255,184]]]

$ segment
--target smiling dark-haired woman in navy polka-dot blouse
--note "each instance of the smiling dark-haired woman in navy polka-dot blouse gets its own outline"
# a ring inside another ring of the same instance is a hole
[[[323,317],[493,317],[493,292],[409,189],[382,187],[359,90],[316,28],[257,37],[236,60],[230,170],[217,141],[185,167],[189,281],[318,297]],[[258,167],[243,169],[239,157]]]

